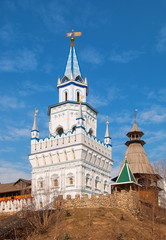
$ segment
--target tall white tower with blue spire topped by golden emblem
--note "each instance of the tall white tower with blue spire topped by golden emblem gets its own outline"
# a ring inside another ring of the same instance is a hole
[[[97,111],[86,102],[88,84],[80,73],[74,36],[62,79],[59,103],[48,107],[50,137],[31,140],[32,195],[37,207],[58,194],[105,194],[111,191],[113,165],[110,136],[96,138]],[[108,135],[108,134],[107,134]]]

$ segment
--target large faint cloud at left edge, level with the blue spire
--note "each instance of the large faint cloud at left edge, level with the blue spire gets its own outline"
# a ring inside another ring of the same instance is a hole
[[[28,49],[6,52],[0,57],[0,71],[4,72],[33,71],[37,65],[35,51]]]

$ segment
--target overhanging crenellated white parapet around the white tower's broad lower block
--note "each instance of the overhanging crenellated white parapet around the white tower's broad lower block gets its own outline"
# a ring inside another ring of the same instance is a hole
[[[102,169],[111,170],[109,159],[112,157],[111,146],[100,142],[85,131],[76,131],[45,139],[32,140],[29,160],[33,167],[84,159]],[[88,152],[87,152],[88,148]],[[97,159],[96,156],[97,155]]]

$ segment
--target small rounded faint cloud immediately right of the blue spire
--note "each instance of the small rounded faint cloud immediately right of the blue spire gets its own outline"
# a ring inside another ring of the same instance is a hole
[[[101,64],[103,62],[103,55],[99,53],[94,47],[87,47],[81,51],[80,57],[83,61],[92,64]]]

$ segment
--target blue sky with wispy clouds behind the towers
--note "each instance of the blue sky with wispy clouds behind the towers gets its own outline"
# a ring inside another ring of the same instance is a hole
[[[58,102],[57,77],[69,52],[66,32],[81,31],[76,51],[88,102],[98,111],[98,138],[109,116],[114,172],[137,122],[151,162],[166,159],[166,1],[0,1],[0,182],[31,177],[34,108],[41,137],[47,107]]]

